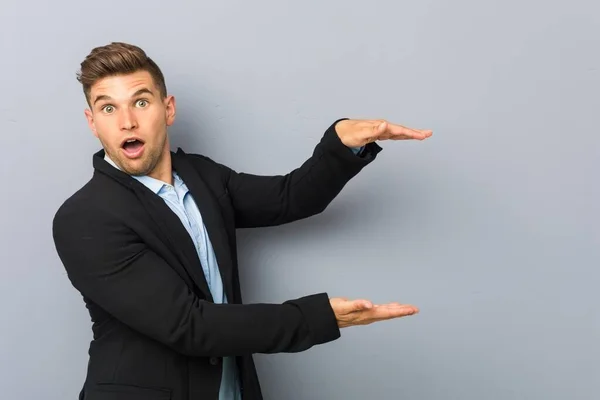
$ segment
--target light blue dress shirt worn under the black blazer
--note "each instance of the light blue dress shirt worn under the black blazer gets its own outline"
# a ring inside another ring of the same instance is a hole
[[[350,148],[354,154],[359,154],[364,147]],[[107,155],[106,162],[120,169]],[[204,270],[204,276],[215,303],[227,303],[227,296],[223,290],[223,282],[219,265],[215,257],[206,227],[202,222],[202,215],[196,202],[181,177],[173,171],[173,185],[149,176],[132,176],[140,183],[160,196],[181,220],[181,223],[190,234]],[[235,357],[223,358],[223,374],[219,390],[219,400],[241,400],[240,385],[237,376]]]

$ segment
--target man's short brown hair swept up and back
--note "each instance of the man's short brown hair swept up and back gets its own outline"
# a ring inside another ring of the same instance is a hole
[[[127,43],[113,42],[93,49],[81,63],[77,80],[83,85],[83,92],[89,103],[90,89],[100,79],[137,71],[147,71],[158,87],[160,95],[163,98],[167,96],[165,78],[158,65],[144,50]]]

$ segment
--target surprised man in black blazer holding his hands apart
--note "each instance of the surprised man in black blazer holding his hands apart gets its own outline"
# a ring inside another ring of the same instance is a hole
[[[326,293],[242,304],[235,230],[322,212],[381,151],[375,141],[431,131],[341,119],[299,168],[257,176],[171,152],[175,99],[139,47],[92,50],[78,80],[103,149],[53,237],[93,322],[80,399],[262,399],[254,353],[300,352],[341,328],[418,312]]]

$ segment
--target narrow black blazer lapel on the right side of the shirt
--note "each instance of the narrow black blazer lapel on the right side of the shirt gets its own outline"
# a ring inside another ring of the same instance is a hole
[[[215,251],[221,279],[228,301],[233,301],[233,261],[229,248],[229,237],[225,230],[225,221],[221,215],[221,209],[212,191],[194,167],[185,159],[185,153],[178,149],[172,154],[171,162],[173,168],[183,179],[190,190],[196,205],[200,209],[202,220],[208,231],[208,236]]]

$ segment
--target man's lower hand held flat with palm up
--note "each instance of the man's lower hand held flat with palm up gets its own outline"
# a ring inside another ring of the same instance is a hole
[[[340,328],[368,325],[373,322],[407,317],[419,312],[417,307],[410,304],[373,304],[368,300],[348,300],[343,297],[332,298],[329,302]]]

